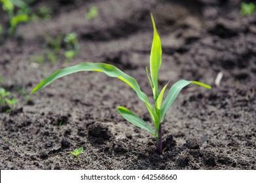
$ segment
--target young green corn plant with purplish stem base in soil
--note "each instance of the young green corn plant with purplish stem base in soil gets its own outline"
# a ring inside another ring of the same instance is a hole
[[[163,146],[162,146],[162,122],[164,122],[164,118],[166,116],[167,110],[172,106],[175,99],[177,98],[177,95],[181,91],[182,88],[187,86],[188,84],[196,84],[198,86],[202,86],[204,88],[211,89],[211,86],[208,86],[207,84],[203,84],[202,82],[197,81],[190,81],[190,80],[179,80],[176,82],[169,90],[169,92],[166,95],[166,98],[163,101],[164,97],[164,91],[166,90],[168,84],[162,88],[162,91],[159,93],[158,91],[158,71],[160,69],[160,65],[162,62],[162,48],[161,48],[161,41],[160,37],[156,31],[155,21],[153,18],[153,15],[151,14],[151,19],[153,23],[153,43],[151,48],[151,56],[150,56],[150,75],[149,71],[146,67],[147,77],[149,79],[149,83],[151,85],[151,89],[153,91],[153,97],[155,99],[155,105],[151,105],[149,103],[149,99],[145,93],[141,91],[139,88],[139,84],[137,84],[137,81],[132,78],[129,75],[126,75],[120,69],[113,65],[109,65],[106,63],[80,63],[79,65],[75,65],[73,67],[67,67],[64,69],[60,69],[59,71],[56,71],[52,75],[50,75],[48,78],[40,82],[35,88],[33,88],[31,93],[37,92],[47,86],[48,84],[52,83],[57,78],[60,78],[62,76],[70,75],[72,73],[77,73],[80,71],[97,71],[105,73],[108,76],[116,77],[128,84],[137,94],[137,97],[147,107],[147,110],[149,110],[149,114],[151,115],[155,130],[151,128],[147,122],[139,118],[136,114],[131,112],[128,108],[125,107],[117,107],[118,112],[131,124],[136,125],[137,127],[140,127],[141,129],[145,129],[146,131],[149,131],[155,139],[156,139],[156,150],[158,154],[162,154],[163,152]]]

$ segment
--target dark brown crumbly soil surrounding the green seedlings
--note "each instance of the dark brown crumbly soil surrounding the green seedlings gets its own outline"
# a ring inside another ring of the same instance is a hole
[[[240,2],[35,1],[32,7],[52,7],[52,19],[19,25],[0,44],[1,87],[19,101],[0,113],[0,168],[256,169],[256,14],[241,16]],[[91,5],[99,15],[86,20]],[[150,12],[162,40],[160,88],[180,79],[213,86],[191,85],[177,97],[163,123],[161,156],[155,139],[117,112],[127,107],[152,125],[136,93],[116,78],[82,72],[32,96],[17,92],[29,93],[54,71],[88,61],[119,67],[152,96],[145,73],[153,39]],[[46,34],[69,32],[77,33],[81,46],[72,61],[29,61],[43,53]],[[69,153],[80,147],[79,159]]]

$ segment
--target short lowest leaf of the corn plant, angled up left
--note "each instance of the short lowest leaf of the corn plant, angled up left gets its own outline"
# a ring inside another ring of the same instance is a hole
[[[117,110],[124,117],[124,119],[128,120],[128,122],[130,122],[133,125],[136,125],[137,127],[149,131],[156,137],[155,131],[153,131],[153,129],[145,121],[143,121],[141,118],[136,116],[136,114],[128,110],[128,108],[118,107]]]

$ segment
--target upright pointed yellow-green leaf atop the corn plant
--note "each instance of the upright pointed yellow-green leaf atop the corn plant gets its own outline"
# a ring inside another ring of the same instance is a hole
[[[158,98],[158,71],[160,69],[161,61],[162,61],[162,48],[161,48],[161,40],[160,37],[156,31],[156,25],[153,18],[153,15],[151,14],[153,29],[154,29],[154,35],[153,35],[153,42],[151,47],[151,55],[150,55],[150,72],[151,72],[151,79],[153,82],[153,95],[154,99]]]

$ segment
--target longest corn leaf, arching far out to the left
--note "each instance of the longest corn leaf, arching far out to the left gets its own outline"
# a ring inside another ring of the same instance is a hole
[[[72,73],[77,73],[80,71],[98,71],[98,72],[103,72],[108,76],[111,77],[116,77],[128,84],[137,94],[139,99],[141,101],[149,104],[149,99],[147,99],[147,95],[145,93],[141,92],[139,88],[139,84],[137,84],[136,80],[132,78],[129,75],[126,75],[120,69],[113,65],[109,65],[107,63],[80,63],[78,65],[72,66],[72,67],[66,67],[64,69],[60,69],[59,71],[56,71],[52,75],[50,75],[48,78],[45,80],[41,81],[35,88],[32,90],[31,93],[35,93],[38,90],[41,90],[48,84],[52,83],[54,80],[57,78],[60,78],[62,76],[70,75]]]

